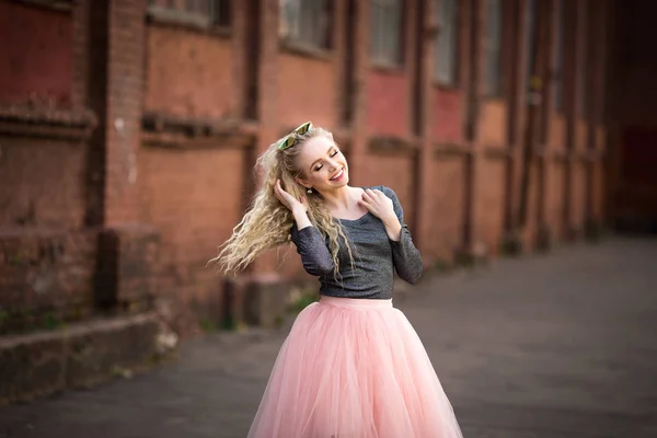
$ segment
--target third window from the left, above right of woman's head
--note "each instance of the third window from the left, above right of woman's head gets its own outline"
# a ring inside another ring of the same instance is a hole
[[[372,0],[370,56],[374,64],[402,64],[402,1]]]

